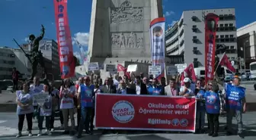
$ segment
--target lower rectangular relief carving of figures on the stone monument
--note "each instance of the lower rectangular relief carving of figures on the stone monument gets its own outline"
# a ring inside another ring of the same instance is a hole
[[[112,33],[112,48],[142,48],[143,33]]]

